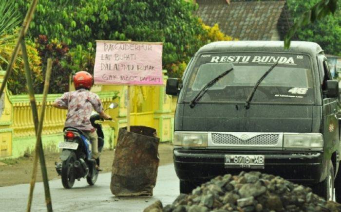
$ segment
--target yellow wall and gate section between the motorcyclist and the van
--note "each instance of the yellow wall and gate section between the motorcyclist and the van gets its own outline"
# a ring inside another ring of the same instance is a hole
[[[164,73],[166,73],[164,71]],[[167,76],[164,75],[164,85]],[[118,95],[114,102],[119,104],[118,109],[110,110],[114,117],[115,129],[127,126],[127,86],[102,86],[101,91],[117,90]],[[130,93],[131,125],[144,125],[156,129],[161,142],[172,141],[173,119],[176,98],[166,95],[165,86],[132,86]],[[115,130],[117,138],[118,130]]]

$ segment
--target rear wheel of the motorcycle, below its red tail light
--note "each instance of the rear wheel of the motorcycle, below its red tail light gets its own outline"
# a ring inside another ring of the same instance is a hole
[[[76,154],[75,152],[71,152],[68,159],[64,160],[61,164],[61,182],[66,189],[71,189],[75,183],[75,161]]]

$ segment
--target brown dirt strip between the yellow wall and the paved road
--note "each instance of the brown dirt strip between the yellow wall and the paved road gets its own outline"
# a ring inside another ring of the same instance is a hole
[[[159,145],[160,165],[173,162],[173,146],[168,143]],[[114,159],[114,150],[104,150],[101,154],[103,173],[111,172]],[[58,153],[45,154],[46,168],[49,179],[57,179],[55,161],[59,161]],[[0,161],[0,186],[29,183],[32,175],[33,157],[26,156],[20,159]],[[38,166],[37,182],[41,182],[40,166]]]

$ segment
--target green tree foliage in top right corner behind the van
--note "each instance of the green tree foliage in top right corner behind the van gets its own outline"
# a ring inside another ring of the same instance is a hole
[[[286,35],[319,43],[326,53],[341,55],[341,11],[337,0],[287,0],[295,24]],[[334,16],[333,16],[334,15]]]

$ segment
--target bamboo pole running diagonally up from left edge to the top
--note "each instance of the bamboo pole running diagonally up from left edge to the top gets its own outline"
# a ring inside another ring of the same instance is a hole
[[[27,13],[26,13],[26,16],[24,18],[24,21],[22,22],[16,46],[15,46],[14,51],[12,53],[11,60],[10,60],[10,62],[8,64],[8,66],[7,66],[5,76],[3,77],[3,82],[2,82],[2,85],[1,85],[1,88],[0,88],[0,97],[1,97],[1,95],[3,93],[3,90],[6,87],[7,80],[8,80],[8,78],[9,78],[11,72],[12,72],[13,65],[14,65],[14,63],[15,63],[15,61],[17,59],[17,56],[18,56],[18,53],[19,53],[19,50],[20,50],[21,40],[24,39],[24,36],[26,35],[26,32],[28,30],[28,27],[30,26],[33,14],[34,14],[34,12],[36,10],[37,3],[38,3],[38,0],[32,0],[31,5],[30,5],[29,9],[27,10]]]

